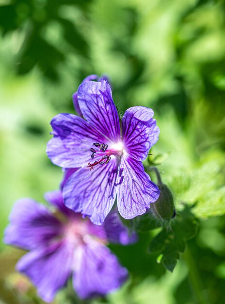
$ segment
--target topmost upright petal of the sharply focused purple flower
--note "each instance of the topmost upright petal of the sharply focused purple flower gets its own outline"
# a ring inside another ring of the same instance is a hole
[[[104,135],[104,143],[120,140],[119,116],[110,85],[105,80],[80,84],[78,103],[83,117],[99,134]]]

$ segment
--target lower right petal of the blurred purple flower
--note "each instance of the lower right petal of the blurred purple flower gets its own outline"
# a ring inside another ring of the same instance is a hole
[[[96,241],[80,247],[74,260],[73,286],[82,299],[106,295],[128,277],[128,271],[121,267],[109,248]]]

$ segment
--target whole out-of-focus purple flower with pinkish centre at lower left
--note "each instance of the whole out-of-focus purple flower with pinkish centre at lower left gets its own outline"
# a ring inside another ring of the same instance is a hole
[[[17,263],[17,270],[26,274],[37,287],[38,294],[51,302],[72,275],[73,287],[80,298],[105,295],[120,287],[128,276],[108,242],[129,244],[129,236],[115,211],[104,225],[66,208],[60,191],[48,192],[46,200],[55,212],[32,199],[15,203],[4,241],[28,250]]]

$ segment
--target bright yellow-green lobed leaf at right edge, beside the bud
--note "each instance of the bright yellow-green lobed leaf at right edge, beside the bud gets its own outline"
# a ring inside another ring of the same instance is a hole
[[[221,160],[210,160],[191,172],[178,172],[168,181],[177,208],[193,205],[193,214],[207,218],[225,214],[225,186]]]

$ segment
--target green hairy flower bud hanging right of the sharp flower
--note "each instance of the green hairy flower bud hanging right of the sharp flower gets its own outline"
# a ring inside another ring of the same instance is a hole
[[[153,211],[158,218],[170,220],[176,215],[173,195],[166,185],[160,183],[158,187],[160,197],[153,203]]]

